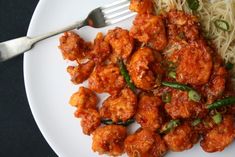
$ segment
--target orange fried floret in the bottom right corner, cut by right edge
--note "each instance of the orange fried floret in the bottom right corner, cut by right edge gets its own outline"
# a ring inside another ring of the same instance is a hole
[[[233,142],[234,129],[233,117],[225,115],[222,123],[203,136],[203,140],[200,142],[202,149],[210,153],[223,151]]]

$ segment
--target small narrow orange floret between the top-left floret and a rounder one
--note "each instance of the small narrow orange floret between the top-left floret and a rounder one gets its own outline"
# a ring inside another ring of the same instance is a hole
[[[91,57],[95,62],[101,63],[105,61],[105,59],[111,53],[111,49],[109,43],[104,41],[104,37],[102,33],[98,33],[94,40],[93,49],[91,51]]]

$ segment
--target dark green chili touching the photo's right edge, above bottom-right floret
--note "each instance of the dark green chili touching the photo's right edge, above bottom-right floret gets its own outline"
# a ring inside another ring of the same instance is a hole
[[[216,102],[208,105],[207,109],[213,110],[213,109],[217,109],[219,107],[228,106],[228,105],[235,105],[235,97],[227,97],[227,98],[217,100]]]

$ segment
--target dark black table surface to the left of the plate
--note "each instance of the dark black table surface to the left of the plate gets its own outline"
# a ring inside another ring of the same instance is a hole
[[[38,0],[0,0],[0,42],[25,36]],[[23,55],[0,63],[0,157],[55,157],[28,105]]]

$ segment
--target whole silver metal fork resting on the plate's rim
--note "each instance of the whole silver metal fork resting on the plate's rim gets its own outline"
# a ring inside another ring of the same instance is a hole
[[[85,20],[77,21],[67,27],[61,28],[36,37],[20,37],[0,43],[0,62],[18,56],[31,48],[37,42],[58,35],[60,33],[79,29],[83,26],[91,26],[101,28],[121,22],[130,18],[136,13],[128,9],[129,0],[117,0],[111,4],[107,4],[92,10]]]

